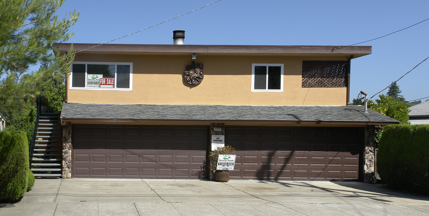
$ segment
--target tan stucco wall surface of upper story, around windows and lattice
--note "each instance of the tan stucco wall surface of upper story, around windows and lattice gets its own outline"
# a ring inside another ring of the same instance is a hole
[[[238,56],[198,54],[204,80],[184,81],[191,54],[76,55],[80,62],[133,62],[132,91],[70,90],[69,103],[210,104],[210,105],[346,105],[347,88],[302,88],[302,60],[347,60],[335,56]],[[283,92],[251,92],[252,63],[284,64]],[[70,85],[69,85],[70,86]]]

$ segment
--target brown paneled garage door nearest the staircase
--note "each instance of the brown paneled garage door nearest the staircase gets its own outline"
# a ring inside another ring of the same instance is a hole
[[[73,125],[73,177],[205,178],[207,127]]]

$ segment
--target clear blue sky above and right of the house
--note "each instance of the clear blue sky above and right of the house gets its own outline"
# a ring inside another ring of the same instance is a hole
[[[67,42],[103,43],[214,1],[66,0],[57,14],[63,17],[75,8],[81,13],[70,28],[75,35]],[[428,8],[429,1],[424,0],[221,0],[112,43],[172,44],[172,31],[183,29],[185,44],[341,46],[423,21],[429,18]],[[372,46],[372,54],[352,59],[350,101],[361,90],[374,95],[426,59],[428,33],[425,21],[359,44]],[[429,60],[398,81],[406,100],[429,97],[428,68]]]

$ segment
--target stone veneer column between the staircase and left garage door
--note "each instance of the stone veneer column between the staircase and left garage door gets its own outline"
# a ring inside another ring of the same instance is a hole
[[[63,174],[61,178],[72,178],[72,125],[63,125]]]

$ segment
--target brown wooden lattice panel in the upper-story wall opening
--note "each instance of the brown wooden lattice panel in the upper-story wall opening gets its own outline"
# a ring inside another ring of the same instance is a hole
[[[302,61],[302,87],[346,87],[347,61]]]

